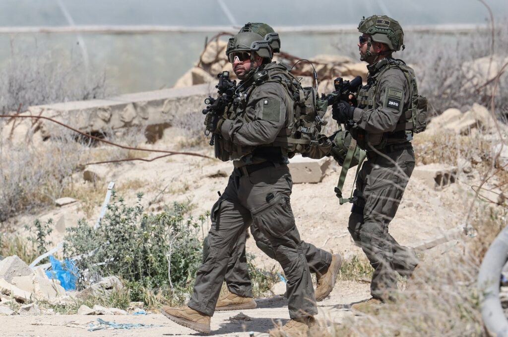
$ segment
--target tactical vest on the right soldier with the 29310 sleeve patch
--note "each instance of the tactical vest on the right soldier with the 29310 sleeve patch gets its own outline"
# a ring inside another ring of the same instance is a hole
[[[415,72],[402,60],[387,59],[388,64],[378,72],[370,76],[367,85],[362,86],[358,92],[358,107],[361,109],[376,109],[376,94],[379,88],[379,80],[383,74],[390,69],[399,69],[404,74],[409,85],[409,106],[405,105],[399,121],[392,132],[373,133],[355,126],[351,129],[358,146],[364,150],[371,148],[382,149],[388,143],[402,142],[405,139],[405,132],[419,133],[427,126],[427,98],[418,94]],[[402,103],[402,102],[401,102]]]

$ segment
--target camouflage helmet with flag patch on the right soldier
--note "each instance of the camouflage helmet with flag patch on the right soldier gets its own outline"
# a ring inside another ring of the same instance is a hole
[[[404,50],[404,32],[399,22],[386,15],[363,17],[358,30],[371,36],[372,41],[384,43],[391,51]]]

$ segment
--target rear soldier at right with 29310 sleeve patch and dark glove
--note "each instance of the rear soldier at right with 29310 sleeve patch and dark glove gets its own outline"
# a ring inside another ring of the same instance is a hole
[[[352,137],[367,152],[348,224],[353,240],[374,268],[372,299],[353,306],[362,310],[393,300],[396,273],[410,276],[418,265],[414,251],[399,245],[388,226],[415,167],[410,141],[425,124],[414,116],[426,117],[426,98],[418,95],[414,71],[392,56],[404,49],[399,23],[388,16],[373,15],[361,20],[358,30],[362,33],[360,60],[368,63],[367,84],[358,92],[357,107],[342,100],[333,106],[332,113],[339,123],[354,122]]]

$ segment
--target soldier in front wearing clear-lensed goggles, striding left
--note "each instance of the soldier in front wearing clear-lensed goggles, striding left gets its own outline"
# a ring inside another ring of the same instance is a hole
[[[268,27],[261,24],[258,31]],[[293,182],[287,165],[288,150],[274,142],[286,134],[290,127],[288,118],[294,114],[293,97],[282,84],[292,78],[285,66],[271,61],[280,46],[278,35],[273,32],[262,35],[244,28],[229,40],[226,49],[241,80],[235,103],[220,118],[207,115],[205,120],[207,130],[218,136],[216,156],[224,161],[233,160],[234,170],[224,193],[212,207],[208,253],[197,272],[187,306],[165,306],[162,312],[178,324],[210,332],[210,317],[230,257],[239,251],[244,254],[245,231],[255,224],[287,278],[291,320],[281,329],[270,331],[270,335],[302,335],[315,324],[313,316],[317,308],[291,209]],[[244,298],[247,302],[251,300],[248,296]]]

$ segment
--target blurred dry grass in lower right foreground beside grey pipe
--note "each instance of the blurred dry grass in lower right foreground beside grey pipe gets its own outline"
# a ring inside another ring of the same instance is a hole
[[[476,288],[480,261],[506,225],[506,211],[481,209],[473,215],[474,238],[463,237],[429,252],[413,279],[390,302],[328,327],[324,336],[486,335]]]

